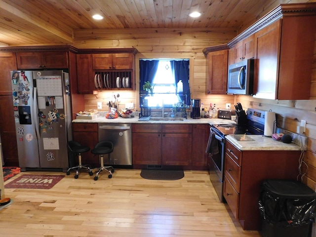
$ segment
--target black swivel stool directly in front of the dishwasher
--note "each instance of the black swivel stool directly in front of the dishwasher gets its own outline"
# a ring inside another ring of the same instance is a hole
[[[98,142],[95,147],[91,150],[91,153],[94,155],[98,155],[100,158],[100,163],[101,167],[99,168],[99,171],[96,172],[94,180],[98,180],[98,175],[102,170],[108,171],[109,174],[109,179],[112,178],[112,173],[114,173],[114,168],[112,166],[104,166],[104,161],[103,161],[103,155],[108,154],[109,159],[110,159],[110,154],[113,152],[113,143],[111,141],[101,141]],[[111,170],[110,170],[111,169]]]

